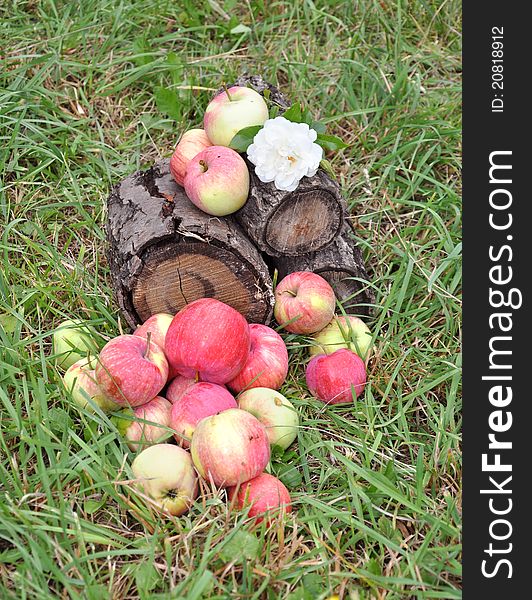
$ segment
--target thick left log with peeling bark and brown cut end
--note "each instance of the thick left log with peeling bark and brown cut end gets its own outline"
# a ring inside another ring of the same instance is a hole
[[[112,282],[131,327],[202,297],[229,304],[250,322],[269,322],[272,281],[259,252],[232,218],[192,205],[168,160],[113,188],[107,238]]]

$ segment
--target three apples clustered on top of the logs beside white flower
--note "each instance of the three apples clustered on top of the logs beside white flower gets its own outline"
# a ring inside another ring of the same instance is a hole
[[[240,130],[264,125],[267,119],[268,106],[258,92],[233,86],[211,100],[204,129],[190,129],[182,135],[170,159],[170,172],[203,212],[220,217],[244,206],[249,171],[229,144]]]

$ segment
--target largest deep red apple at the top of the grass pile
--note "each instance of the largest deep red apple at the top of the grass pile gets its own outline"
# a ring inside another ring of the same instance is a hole
[[[246,319],[215,298],[182,308],[166,334],[166,356],[180,375],[227,383],[246,364],[250,348]]]

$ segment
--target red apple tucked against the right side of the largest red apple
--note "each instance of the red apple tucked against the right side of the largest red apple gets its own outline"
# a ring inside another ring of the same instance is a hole
[[[260,323],[251,323],[249,334],[249,356],[240,373],[228,382],[229,389],[236,393],[256,387],[278,390],[288,373],[288,352],[283,338]]]

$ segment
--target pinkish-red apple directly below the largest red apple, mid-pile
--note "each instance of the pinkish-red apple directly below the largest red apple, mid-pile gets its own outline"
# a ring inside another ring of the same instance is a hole
[[[170,415],[170,426],[176,432],[174,437],[177,443],[188,448],[201,419],[229,408],[237,408],[236,400],[221,385],[200,382],[188,388],[174,403]]]

